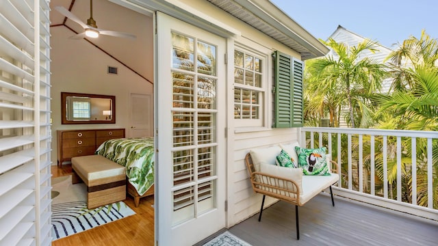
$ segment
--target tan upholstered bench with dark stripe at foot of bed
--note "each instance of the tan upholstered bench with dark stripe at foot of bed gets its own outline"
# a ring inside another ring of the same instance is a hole
[[[94,154],[71,159],[76,184],[83,181],[88,191],[88,209],[126,199],[125,167]]]

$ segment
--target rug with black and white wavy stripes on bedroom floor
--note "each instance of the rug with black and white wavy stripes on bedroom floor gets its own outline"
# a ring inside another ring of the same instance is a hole
[[[110,210],[108,205],[88,210],[86,199],[83,199],[86,197],[85,185],[71,184],[71,178],[54,181],[53,191],[60,193],[52,203],[53,240],[136,214],[124,202],[119,202],[120,209],[114,203]]]

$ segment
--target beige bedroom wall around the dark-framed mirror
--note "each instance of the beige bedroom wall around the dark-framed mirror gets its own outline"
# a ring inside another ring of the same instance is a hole
[[[120,7],[121,8],[121,7]],[[153,20],[144,16],[149,33],[153,33]],[[142,27],[144,28],[144,27]],[[52,163],[57,163],[56,131],[88,128],[125,128],[130,127],[129,100],[131,93],[153,94],[153,85],[129,70],[103,51],[86,40],[69,39],[74,33],[64,26],[51,27],[51,89],[52,97]],[[153,53],[153,35],[144,43],[146,53]],[[114,38],[101,36],[101,38]],[[121,49],[129,50],[129,46]],[[111,53],[111,51],[107,51]],[[142,53],[143,54],[143,53]],[[144,63],[153,66],[153,56],[146,55]],[[118,74],[107,74],[107,66],[118,68]],[[153,71],[153,68],[148,68]],[[144,72],[144,71],[142,71]],[[153,81],[150,72],[147,79]],[[116,96],[116,124],[61,124],[61,92],[86,94],[104,94]]]

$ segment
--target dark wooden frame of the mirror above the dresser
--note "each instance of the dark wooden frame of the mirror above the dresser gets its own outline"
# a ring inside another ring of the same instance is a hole
[[[67,120],[66,98],[67,96],[81,96],[90,98],[108,98],[111,99],[112,118],[111,120]],[[73,92],[61,92],[61,122],[62,124],[116,124],[116,96],[83,94]]]

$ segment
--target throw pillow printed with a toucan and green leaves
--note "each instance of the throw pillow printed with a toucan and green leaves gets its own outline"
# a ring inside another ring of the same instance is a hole
[[[302,168],[304,175],[330,175],[326,162],[326,147],[300,148],[295,147],[298,154],[298,167]]]

